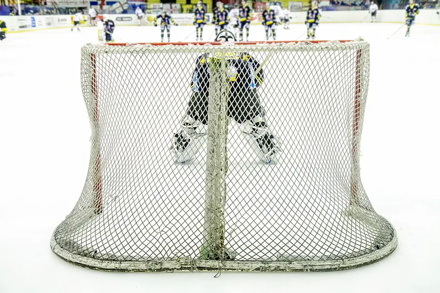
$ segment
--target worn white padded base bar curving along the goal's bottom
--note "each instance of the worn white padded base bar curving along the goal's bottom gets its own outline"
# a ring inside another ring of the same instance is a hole
[[[396,231],[396,230],[394,230]],[[178,260],[106,261],[71,253],[61,248],[52,236],[50,247],[56,255],[69,263],[98,271],[114,272],[172,272],[172,271],[244,271],[244,272],[330,272],[342,271],[375,263],[396,250],[397,236],[385,247],[369,254],[346,260],[306,261],[219,261],[181,257]]]

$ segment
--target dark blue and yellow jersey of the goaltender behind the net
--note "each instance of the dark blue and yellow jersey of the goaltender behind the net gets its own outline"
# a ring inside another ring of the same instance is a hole
[[[243,93],[246,90],[257,88],[263,84],[263,69],[260,68],[260,63],[252,56],[245,52],[230,52],[225,57],[231,93]],[[196,68],[191,78],[191,89],[194,92],[208,91],[210,78],[209,64],[216,58],[220,58],[220,53],[210,57],[207,54],[203,54],[196,60]]]

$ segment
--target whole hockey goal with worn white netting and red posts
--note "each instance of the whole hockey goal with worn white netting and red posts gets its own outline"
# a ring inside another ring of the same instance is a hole
[[[88,175],[52,250],[99,270],[341,270],[395,250],[360,179],[369,44],[88,44]]]

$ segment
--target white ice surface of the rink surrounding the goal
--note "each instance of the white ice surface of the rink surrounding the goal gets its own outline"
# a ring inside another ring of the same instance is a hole
[[[396,228],[396,251],[349,271],[221,272],[220,278],[216,272],[99,272],[52,253],[50,236],[78,200],[88,169],[80,48],[96,42],[97,31],[8,34],[0,42],[0,292],[439,292],[440,26],[416,25],[410,38],[401,28],[388,40],[400,26],[322,23],[316,32],[317,40],[362,37],[371,44],[361,178],[374,209]],[[205,41],[213,41],[213,28],[206,27]],[[193,31],[173,26],[171,42]],[[160,29],[117,27],[114,37],[158,42]],[[278,28],[277,40],[297,38],[305,40],[304,24]],[[251,26],[249,41],[263,40],[263,26]],[[195,41],[195,34],[185,41]]]

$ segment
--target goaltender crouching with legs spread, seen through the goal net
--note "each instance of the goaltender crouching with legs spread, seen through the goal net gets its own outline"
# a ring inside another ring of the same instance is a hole
[[[224,35],[222,35],[224,34]],[[217,42],[235,40],[232,32],[220,33]],[[220,53],[219,53],[220,54]],[[193,159],[198,151],[198,138],[206,135],[208,123],[208,98],[211,62],[221,55],[203,54],[195,61],[191,82],[191,98],[186,115],[179,129],[174,133],[173,150],[176,162],[184,163]],[[260,63],[246,52],[229,52],[225,56],[228,65],[228,117],[240,124],[243,134],[249,135],[259,149],[259,157],[269,164],[275,159],[279,149],[275,136],[269,129],[258,88],[264,81],[264,71]]]

